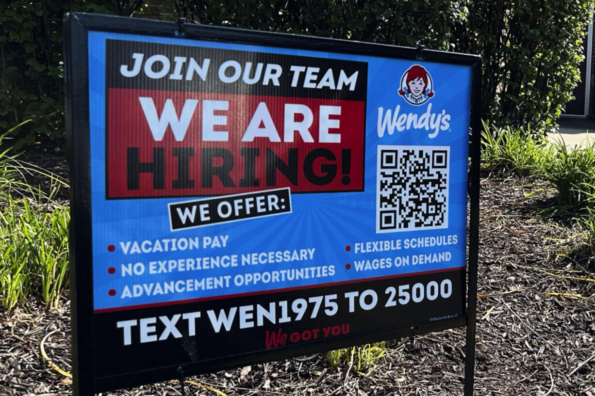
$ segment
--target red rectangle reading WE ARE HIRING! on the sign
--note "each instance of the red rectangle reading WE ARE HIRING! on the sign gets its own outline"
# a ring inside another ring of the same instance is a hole
[[[110,88],[107,197],[361,191],[364,114],[356,100]]]

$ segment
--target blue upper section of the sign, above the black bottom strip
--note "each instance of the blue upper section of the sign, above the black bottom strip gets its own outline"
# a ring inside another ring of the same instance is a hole
[[[465,267],[471,66],[105,32],[88,40],[96,311]],[[271,65],[278,77],[267,81]],[[209,187],[203,147],[230,163]],[[311,172],[324,180],[300,180],[302,158],[323,147]],[[156,164],[159,149],[162,168],[131,174]],[[271,157],[282,166],[265,169]],[[274,183],[252,169],[259,183],[243,186],[250,161]],[[193,187],[172,187],[184,166]]]

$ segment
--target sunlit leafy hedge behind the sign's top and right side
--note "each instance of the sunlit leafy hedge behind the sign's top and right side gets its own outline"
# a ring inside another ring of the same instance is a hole
[[[202,24],[481,55],[483,118],[552,130],[580,78],[593,0],[173,1]]]

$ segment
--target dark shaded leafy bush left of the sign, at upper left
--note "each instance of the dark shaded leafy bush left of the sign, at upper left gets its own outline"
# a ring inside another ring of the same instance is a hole
[[[141,5],[124,0],[0,1],[0,133],[32,120],[14,132],[15,148],[40,136],[60,141],[64,134],[62,15],[130,14]]]

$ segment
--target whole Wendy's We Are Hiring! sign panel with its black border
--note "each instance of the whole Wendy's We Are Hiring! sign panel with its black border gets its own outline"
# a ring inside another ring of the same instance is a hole
[[[79,394],[465,325],[477,58],[67,24]]]

